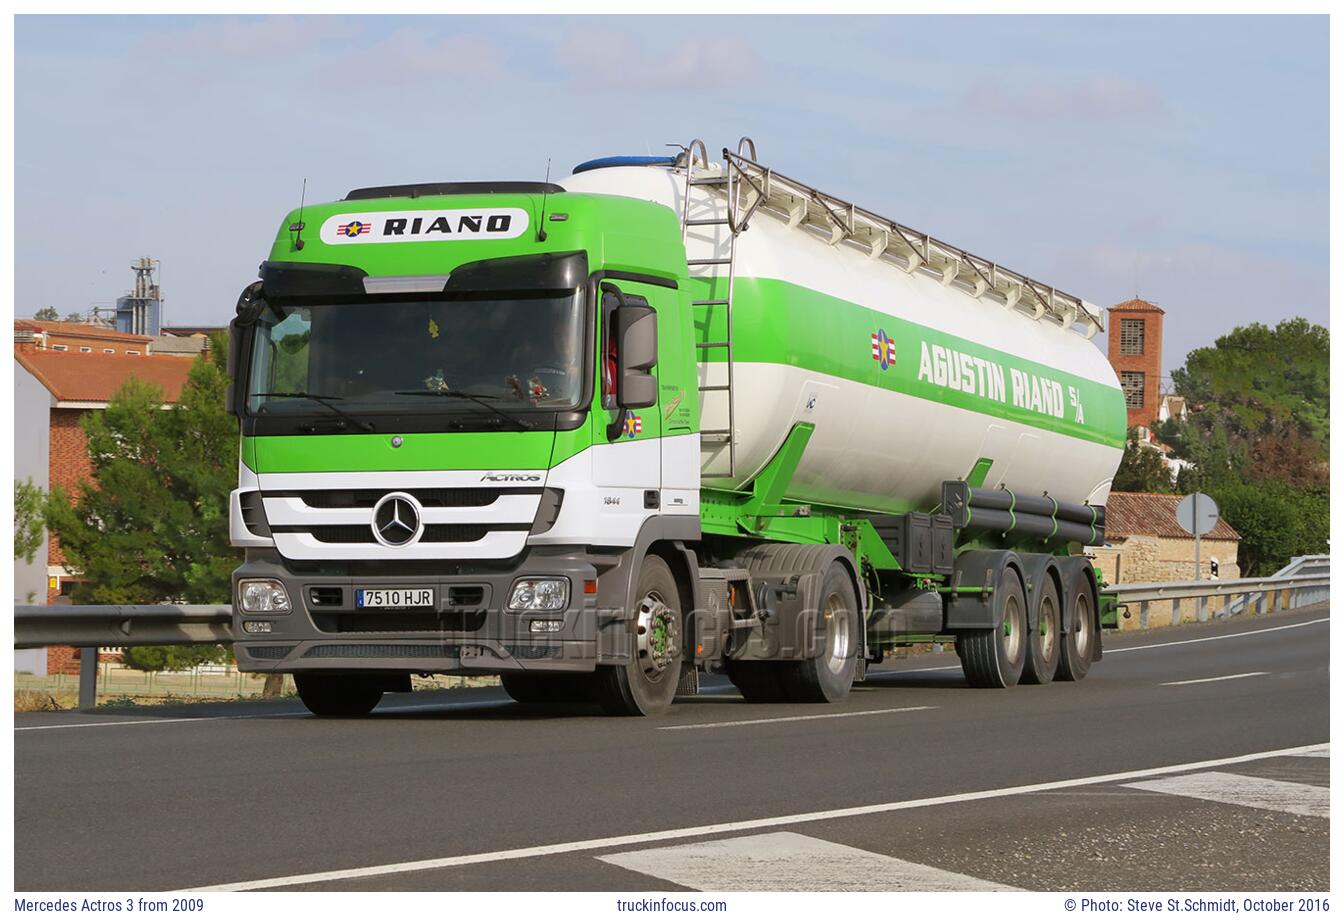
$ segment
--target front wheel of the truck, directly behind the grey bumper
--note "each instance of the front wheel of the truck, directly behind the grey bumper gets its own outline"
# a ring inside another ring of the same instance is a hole
[[[645,556],[634,588],[634,653],[626,665],[601,665],[594,676],[597,701],[613,716],[655,716],[676,696],[681,676],[681,598],[672,569]]]

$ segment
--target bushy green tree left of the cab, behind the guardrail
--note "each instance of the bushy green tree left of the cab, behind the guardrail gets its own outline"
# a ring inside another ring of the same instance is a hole
[[[228,603],[241,553],[228,545],[238,427],[224,408],[226,355],[198,357],[167,411],[159,387],[132,377],[85,416],[93,482],[75,496],[58,486],[47,502],[66,564],[85,579],[75,603]],[[216,651],[172,654],[227,654],[207,647]]]

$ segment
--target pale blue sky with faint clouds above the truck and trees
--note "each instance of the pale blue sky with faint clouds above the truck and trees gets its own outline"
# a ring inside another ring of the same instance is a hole
[[[17,16],[15,314],[223,325],[285,212],[563,181],[750,136],[769,167],[1109,306],[1164,367],[1328,324],[1324,16]],[[1098,337],[1099,340],[1101,337]]]

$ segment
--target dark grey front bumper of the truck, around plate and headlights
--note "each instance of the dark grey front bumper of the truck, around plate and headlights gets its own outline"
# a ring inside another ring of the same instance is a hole
[[[563,611],[504,610],[519,578],[570,580]],[[238,582],[284,583],[288,614],[243,614]],[[598,571],[582,552],[532,549],[500,564],[288,563],[271,551],[250,551],[234,572],[234,651],[242,672],[503,673],[591,672],[598,663],[597,595],[585,582]],[[433,588],[434,607],[362,610],[359,588]],[[245,622],[270,623],[249,634]],[[555,633],[534,633],[534,620],[563,620]]]

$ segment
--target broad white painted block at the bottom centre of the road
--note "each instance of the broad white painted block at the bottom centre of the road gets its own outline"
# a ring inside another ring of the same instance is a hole
[[[597,857],[699,892],[1016,892],[792,831]]]

